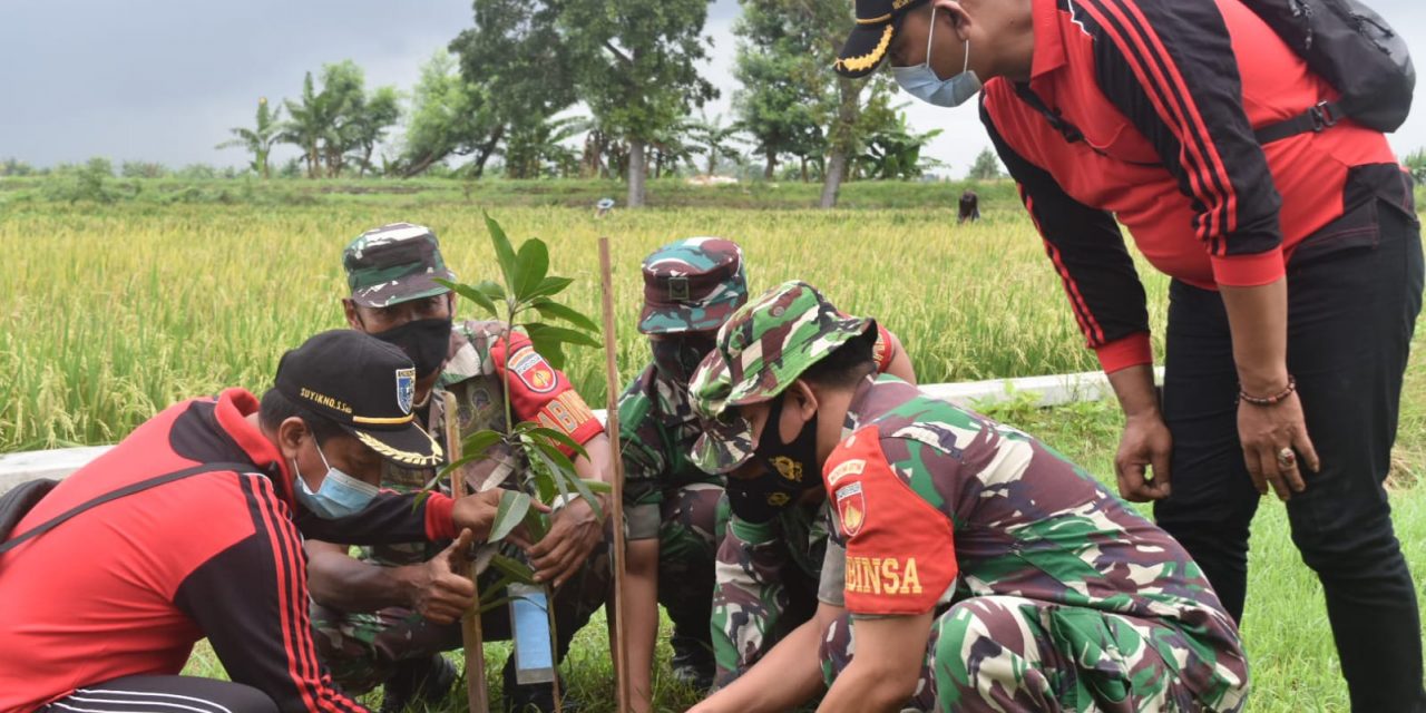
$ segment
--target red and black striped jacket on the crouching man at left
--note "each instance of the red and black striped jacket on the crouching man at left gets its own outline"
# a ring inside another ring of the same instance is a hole
[[[242,389],[170,406],[63,481],[16,528],[124,485],[204,462],[195,475],[87,511],[0,556],[0,712],[80,686],[177,674],[208,637],[228,676],[284,712],[365,710],[331,684],[308,625],[302,535],[376,543],[449,539],[452,501],[384,493],[358,516],[292,506],[292,473],[250,418]]]

